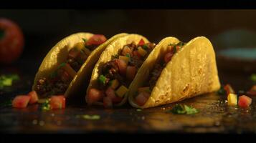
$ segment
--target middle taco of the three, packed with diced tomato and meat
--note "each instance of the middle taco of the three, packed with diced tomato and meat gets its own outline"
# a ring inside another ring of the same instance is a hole
[[[85,96],[87,104],[123,105],[138,69],[155,46],[138,34],[120,37],[109,44],[93,69]]]

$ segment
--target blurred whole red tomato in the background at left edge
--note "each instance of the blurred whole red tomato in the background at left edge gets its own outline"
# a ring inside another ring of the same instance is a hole
[[[22,54],[22,29],[9,19],[0,18],[0,64],[11,64]]]

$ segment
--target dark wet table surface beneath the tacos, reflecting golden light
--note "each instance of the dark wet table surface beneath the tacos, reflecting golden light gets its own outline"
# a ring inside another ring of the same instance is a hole
[[[22,65],[22,66],[20,66]],[[1,69],[1,74],[19,73],[22,83],[16,83],[0,91],[0,101],[24,94],[31,89],[36,71],[30,71],[25,64]],[[29,65],[29,64],[26,64]],[[236,91],[252,86],[250,74],[219,71],[222,84],[230,83]],[[133,109],[126,106],[118,109],[101,107],[68,106],[66,109],[43,111],[40,104],[26,109],[1,107],[0,132],[9,133],[256,133],[256,97],[247,109],[229,107],[227,97],[216,93],[204,94],[186,99],[187,104],[199,109],[198,114],[172,114],[168,112],[174,104],[150,109]],[[100,119],[84,119],[83,115],[98,115]]]

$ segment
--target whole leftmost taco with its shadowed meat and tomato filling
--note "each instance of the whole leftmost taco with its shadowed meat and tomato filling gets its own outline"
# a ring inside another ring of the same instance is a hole
[[[65,97],[74,95],[90,79],[93,67],[105,47],[125,35],[117,34],[108,40],[104,35],[91,33],[67,36],[45,56],[32,89],[41,99],[57,94],[64,94]]]

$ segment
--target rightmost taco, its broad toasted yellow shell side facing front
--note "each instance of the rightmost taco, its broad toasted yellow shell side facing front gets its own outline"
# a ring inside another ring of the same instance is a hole
[[[178,102],[220,87],[215,53],[209,39],[188,43],[167,37],[153,49],[128,92],[133,107],[148,108]]]

